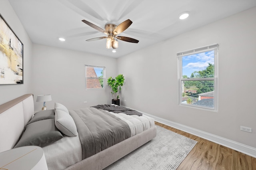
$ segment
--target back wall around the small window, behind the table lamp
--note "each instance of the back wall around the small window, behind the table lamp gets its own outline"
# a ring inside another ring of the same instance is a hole
[[[48,109],[53,109],[57,102],[69,110],[111,103],[110,88],[106,84],[105,89],[86,90],[85,65],[106,67],[107,79],[116,76],[116,62],[116,58],[34,44],[34,101],[37,95],[50,94],[52,101],[46,102]],[[43,103],[35,102],[35,110],[42,106]]]

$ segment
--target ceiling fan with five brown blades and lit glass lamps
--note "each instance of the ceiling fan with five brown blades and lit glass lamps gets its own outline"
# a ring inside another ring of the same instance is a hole
[[[118,26],[116,26],[115,24],[106,24],[105,25],[105,30],[103,30],[102,28],[86,21],[86,20],[82,20],[82,22],[84,22],[85,24],[87,24],[88,26],[103,32],[104,34],[106,34],[107,36],[105,37],[97,37],[97,38],[92,38],[89,40],[86,40],[88,42],[90,41],[95,41],[95,40],[101,40],[104,38],[107,38],[107,44],[106,47],[107,48],[117,48],[118,47],[118,40],[122,40],[125,42],[131,42],[131,43],[138,43],[138,40],[135,40],[134,38],[129,38],[129,37],[123,37],[123,36],[117,36],[117,34],[120,34],[121,32],[123,32],[124,30],[126,30],[131,24],[132,21],[131,20],[126,20],[124,22],[122,22],[121,24],[119,24]]]

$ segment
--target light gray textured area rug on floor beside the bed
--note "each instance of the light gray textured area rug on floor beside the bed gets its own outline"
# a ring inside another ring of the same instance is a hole
[[[154,139],[104,170],[176,170],[197,141],[160,126]]]

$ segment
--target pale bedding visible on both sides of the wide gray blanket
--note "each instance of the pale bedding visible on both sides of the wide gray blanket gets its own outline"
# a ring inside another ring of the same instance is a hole
[[[126,115],[124,113],[112,113],[125,121],[130,129],[131,136],[154,127],[154,119],[146,115]],[[79,136],[68,137],[43,147],[48,170],[62,170],[82,160],[82,147]]]

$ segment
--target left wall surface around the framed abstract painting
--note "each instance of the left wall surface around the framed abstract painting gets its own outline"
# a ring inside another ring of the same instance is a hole
[[[32,42],[8,0],[1,0],[0,14],[23,43],[24,84],[0,85],[0,105],[26,93],[32,93]]]

